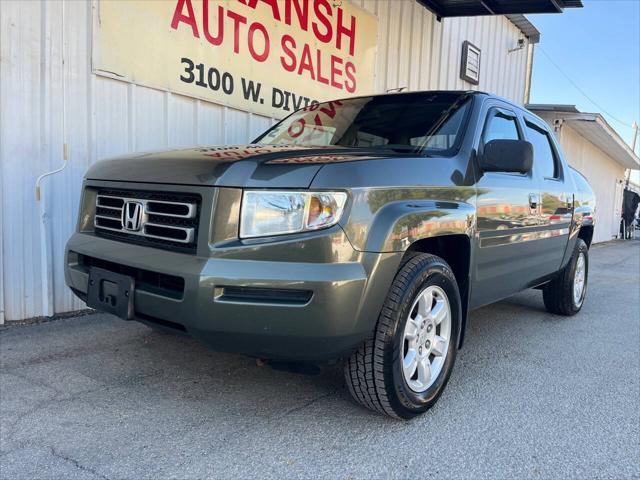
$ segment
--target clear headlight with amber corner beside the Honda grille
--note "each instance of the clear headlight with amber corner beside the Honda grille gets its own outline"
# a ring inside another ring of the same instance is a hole
[[[340,220],[346,202],[344,192],[248,190],[242,199],[240,237],[266,237],[330,227]]]

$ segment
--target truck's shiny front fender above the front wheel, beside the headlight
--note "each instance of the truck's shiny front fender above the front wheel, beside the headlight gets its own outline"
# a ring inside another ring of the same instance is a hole
[[[353,247],[366,252],[404,252],[425,238],[473,233],[475,208],[450,200],[404,200],[379,208],[370,222],[345,226]]]

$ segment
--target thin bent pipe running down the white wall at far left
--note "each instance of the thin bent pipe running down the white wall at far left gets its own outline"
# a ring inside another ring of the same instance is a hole
[[[66,128],[66,61],[65,61],[65,0],[61,2],[62,8],[62,29],[61,29],[61,45],[60,48],[62,50],[61,60],[62,60],[62,165],[56,168],[55,170],[51,170],[49,172],[43,173],[36,180],[36,201],[40,207],[40,269],[42,275],[42,313],[44,316],[51,317],[54,314],[53,308],[53,260],[52,260],[52,235],[51,235],[51,222],[49,210],[46,202],[46,196],[44,198],[40,195],[40,184],[42,180],[51,175],[55,175],[56,173],[61,172],[67,167],[68,160],[68,148],[67,148],[67,128]]]

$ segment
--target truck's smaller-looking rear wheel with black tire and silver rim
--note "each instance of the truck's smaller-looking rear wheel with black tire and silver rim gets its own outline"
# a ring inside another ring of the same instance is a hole
[[[544,306],[550,313],[557,315],[575,315],[584,304],[589,277],[589,247],[578,238],[569,263],[558,276],[542,289]],[[582,278],[581,287],[576,287]],[[577,290],[579,288],[579,294]]]

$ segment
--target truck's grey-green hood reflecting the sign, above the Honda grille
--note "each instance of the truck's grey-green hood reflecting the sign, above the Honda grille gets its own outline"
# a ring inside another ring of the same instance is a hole
[[[380,158],[343,147],[235,145],[126,155],[96,163],[90,180],[248,188],[308,188],[326,163]]]

